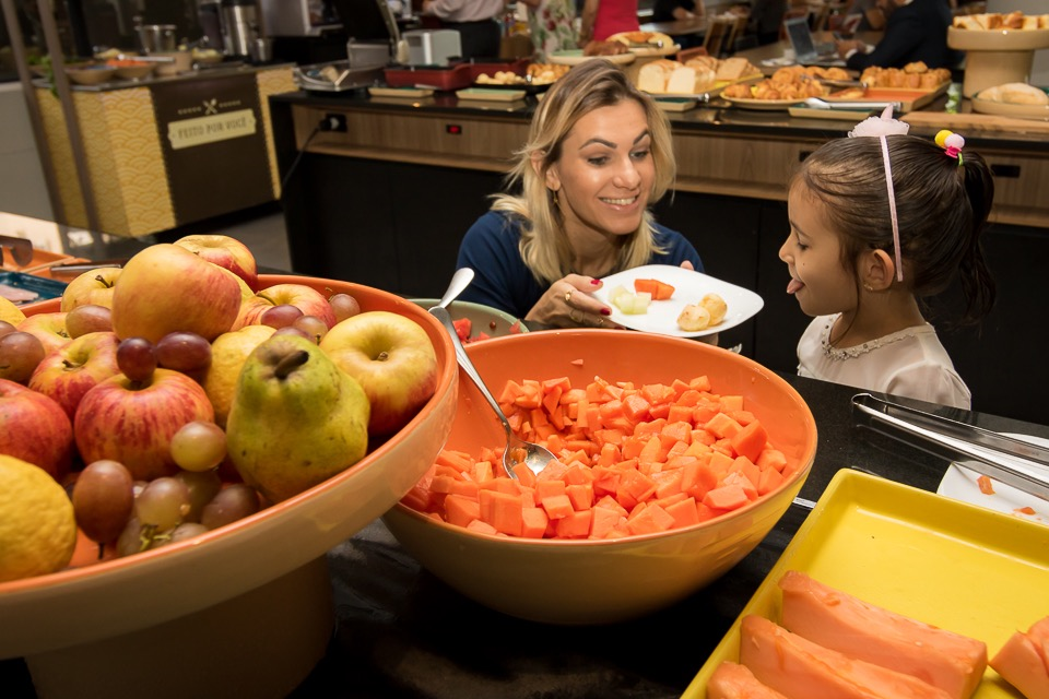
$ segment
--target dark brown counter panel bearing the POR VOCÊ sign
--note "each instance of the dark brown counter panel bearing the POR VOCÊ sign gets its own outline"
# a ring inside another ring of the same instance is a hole
[[[254,71],[150,91],[177,225],[274,199]]]

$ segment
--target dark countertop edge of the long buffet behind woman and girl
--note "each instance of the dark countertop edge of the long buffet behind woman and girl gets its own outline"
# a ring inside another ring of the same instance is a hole
[[[434,97],[426,99],[375,99],[367,95],[366,90],[367,88],[362,87],[352,91],[352,94],[334,93],[333,95],[298,91],[271,95],[270,100],[333,109],[416,111],[428,115],[459,117],[470,115],[522,121],[531,118],[538,105],[537,99],[529,96],[518,103],[493,102],[491,108],[479,108],[472,105],[463,107],[459,106],[459,99],[452,91],[437,92]],[[517,105],[516,108],[512,107],[515,104]],[[507,108],[508,105],[510,105],[510,108]],[[933,104],[933,106],[941,105],[941,102]],[[938,109],[927,108],[922,111],[938,111]],[[775,132],[785,137],[811,139],[813,141],[842,138],[847,135],[849,130],[856,125],[856,122],[851,120],[798,118],[791,117],[787,111],[747,111],[716,105],[698,106],[688,111],[669,114],[668,117],[674,130],[681,133],[738,133],[753,135]],[[910,131],[916,135],[928,135],[931,138],[935,135],[938,129],[911,125]],[[965,133],[965,138],[971,146],[1018,149],[1034,153],[1049,153],[1049,139],[1046,139],[1045,134],[1040,133],[1021,134],[973,130]]]

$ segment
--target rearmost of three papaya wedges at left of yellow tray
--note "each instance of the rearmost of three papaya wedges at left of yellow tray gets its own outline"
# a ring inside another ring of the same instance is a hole
[[[797,571],[779,581],[782,625],[846,655],[919,677],[955,699],[976,691],[987,644],[889,612]]]

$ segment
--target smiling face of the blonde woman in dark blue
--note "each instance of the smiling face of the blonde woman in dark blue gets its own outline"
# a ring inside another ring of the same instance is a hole
[[[655,179],[648,120],[633,99],[579,119],[546,170],[546,186],[557,192],[569,235],[634,233]]]

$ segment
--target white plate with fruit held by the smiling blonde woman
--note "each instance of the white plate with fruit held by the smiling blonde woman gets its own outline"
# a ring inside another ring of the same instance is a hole
[[[673,286],[674,294],[667,300],[652,301],[647,313],[624,313],[609,300],[609,294],[616,286],[622,286],[633,294],[634,280],[659,280],[663,284]],[[716,280],[700,272],[693,272],[670,264],[646,264],[618,274],[612,274],[602,281],[604,285],[593,295],[612,309],[612,315],[609,317],[612,321],[625,328],[653,332],[660,335],[672,335],[674,337],[712,335],[722,330],[735,328],[765,306],[765,300],[750,289]],[[682,309],[688,304],[698,304],[704,295],[711,293],[723,298],[729,307],[724,320],[698,332],[686,332],[679,328],[677,316],[681,315]]]

